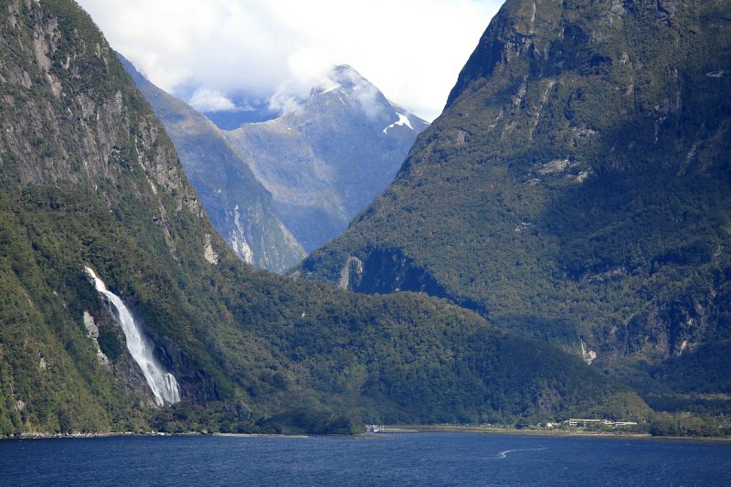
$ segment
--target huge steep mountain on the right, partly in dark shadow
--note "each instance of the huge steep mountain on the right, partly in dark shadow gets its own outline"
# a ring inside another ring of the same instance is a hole
[[[731,393],[729,18],[508,0],[393,184],[300,273],[447,298],[646,392]]]

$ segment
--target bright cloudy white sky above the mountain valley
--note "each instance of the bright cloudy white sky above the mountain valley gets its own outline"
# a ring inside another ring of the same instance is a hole
[[[77,0],[111,47],[200,111],[291,108],[349,64],[432,121],[503,0]]]

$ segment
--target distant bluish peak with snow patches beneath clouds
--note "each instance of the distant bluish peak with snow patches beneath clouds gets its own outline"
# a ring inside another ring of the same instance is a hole
[[[427,126],[355,69],[338,66],[297,108],[224,133],[311,251],[386,188]]]

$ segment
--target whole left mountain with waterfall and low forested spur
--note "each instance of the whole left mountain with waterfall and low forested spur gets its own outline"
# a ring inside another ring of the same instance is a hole
[[[0,9],[0,435],[648,417],[448,302],[252,269],[90,17]]]

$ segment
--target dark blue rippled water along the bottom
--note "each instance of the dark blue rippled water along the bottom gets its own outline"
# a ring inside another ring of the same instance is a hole
[[[2,485],[729,485],[731,444],[419,433],[0,441]]]

